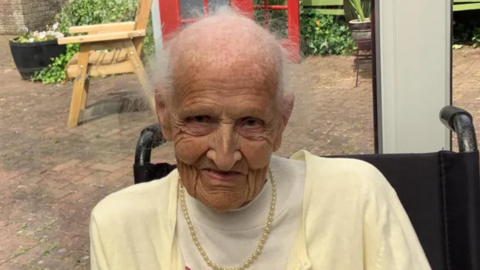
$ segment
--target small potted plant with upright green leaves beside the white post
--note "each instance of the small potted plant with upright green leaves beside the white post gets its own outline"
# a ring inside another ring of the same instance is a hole
[[[371,0],[345,0],[345,17],[352,31],[352,38],[371,38],[372,24],[370,21]]]

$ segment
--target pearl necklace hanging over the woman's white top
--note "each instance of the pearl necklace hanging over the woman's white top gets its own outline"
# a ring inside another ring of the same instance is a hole
[[[197,233],[195,232],[195,229],[193,228],[192,220],[190,219],[190,215],[188,214],[188,209],[187,205],[185,202],[185,190],[183,188],[183,185],[180,184],[180,203],[182,206],[182,212],[183,216],[185,217],[185,220],[187,221],[188,229],[190,230],[190,235],[192,236],[193,242],[195,243],[195,246],[197,246],[198,252],[200,252],[200,255],[203,257],[203,260],[205,263],[212,269],[214,270],[245,270],[252,265],[252,263],[260,256],[262,253],[263,247],[265,246],[265,243],[267,242],[268,235],[270,234],[271,227],[272,227],[272,222],[273,222],[273,216],[275,214],[275,203],[277,200],[277,184],[275,182],[275,179],[273,178],[273,173],[272,169],[269,167],[268,172],[270,174],[270,182],[272,183],[272,200],[270,202],[270,211],[268,213],[268,219],[267,219],[267,224],[265,226],[265,229],[263,231],[262,238],[260,239],[260,242],[258,243],[257,249],[255,252],[250,255],[250,257],[240,266],[237,267],[223,267],[216,265],[213,263],[210,258],[207,256],[207,253],[203,249],[202,245],[200,244],[200,241],[198,240]]]

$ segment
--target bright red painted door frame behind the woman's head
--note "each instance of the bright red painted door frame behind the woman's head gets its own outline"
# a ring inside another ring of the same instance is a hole
[[[163,41],[168,41],[172,34],[177,32],[183,24],[191,23],[198,18],[182,19],[179,0],[158,0],[160,6],[160,19],[162,23]],[[299,60],[300,52],[300,18],[299,1],[287,0],[287,5],[269,5],[268,0],[263,1],[263,5],[253,5],[252,0],[231,0],[234,6],[244,15],[253,19],[254,9],[263,9],[265,11],[265,24],[268,24],[268,10],[285,10],[287,12],[288,40],[281,41],[282,45],[289,51],[290,58],[293,61]],[[203,0],[203,9],[208,14],[208,0]]]

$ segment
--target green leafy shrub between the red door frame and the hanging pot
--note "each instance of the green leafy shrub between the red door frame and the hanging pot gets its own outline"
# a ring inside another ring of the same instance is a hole
[[[342,17],[304,8],[300,25],[305,55],[344,55],[354,48],[350,30]]]

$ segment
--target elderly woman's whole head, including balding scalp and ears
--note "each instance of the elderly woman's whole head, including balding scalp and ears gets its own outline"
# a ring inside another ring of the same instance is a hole
[[[217,211],[260,192],[293,108],[293,96],[277,95],[283,60],[269,35],[248,18],[214,16],[170,46],[173,93],[157,96],[157,115],[181,183]]]

